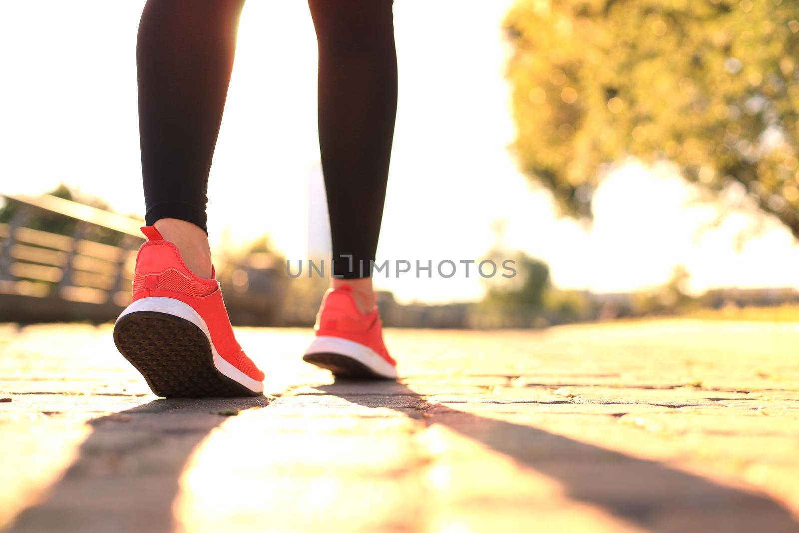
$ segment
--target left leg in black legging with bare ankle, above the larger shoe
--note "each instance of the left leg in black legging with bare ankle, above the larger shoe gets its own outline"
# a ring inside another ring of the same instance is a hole
[[[148,225],[209,277],[205,196],[244,0],[149,0],[139,25],[141,170]]]

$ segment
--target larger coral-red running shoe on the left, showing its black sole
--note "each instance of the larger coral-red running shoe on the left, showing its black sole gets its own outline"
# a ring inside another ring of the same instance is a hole
[[[264,373],[233,336],[214,272],[186,267],[153,226],[136,257],[133,301],[117,318],[113,341],[158,396],[260,396]]]

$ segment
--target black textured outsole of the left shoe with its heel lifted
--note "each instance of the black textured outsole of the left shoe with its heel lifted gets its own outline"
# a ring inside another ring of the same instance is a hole
[[[213,364],[213,352],[205,333],[179,316],[132,312],[114,326],[113,342],[157,396],[263,396],[219,372]]]

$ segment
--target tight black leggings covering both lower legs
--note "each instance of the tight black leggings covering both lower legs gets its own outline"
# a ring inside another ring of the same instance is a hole
[[[334,272],[364,277],[377,249],[396,117],[392,0],[308,5],[319,44],[319,140]],[[149,225],[178,218],[208,232],[208,176],[243,6],[244,0],[148,0],[141,15],[139,125]]]

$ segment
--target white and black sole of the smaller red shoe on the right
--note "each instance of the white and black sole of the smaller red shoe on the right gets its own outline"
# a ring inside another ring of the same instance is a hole
[[[353,340],[318,336],[306,350],[303,360],[326,368],[334,376],[348,380],[396,380],[396,367],[372,348]]]

